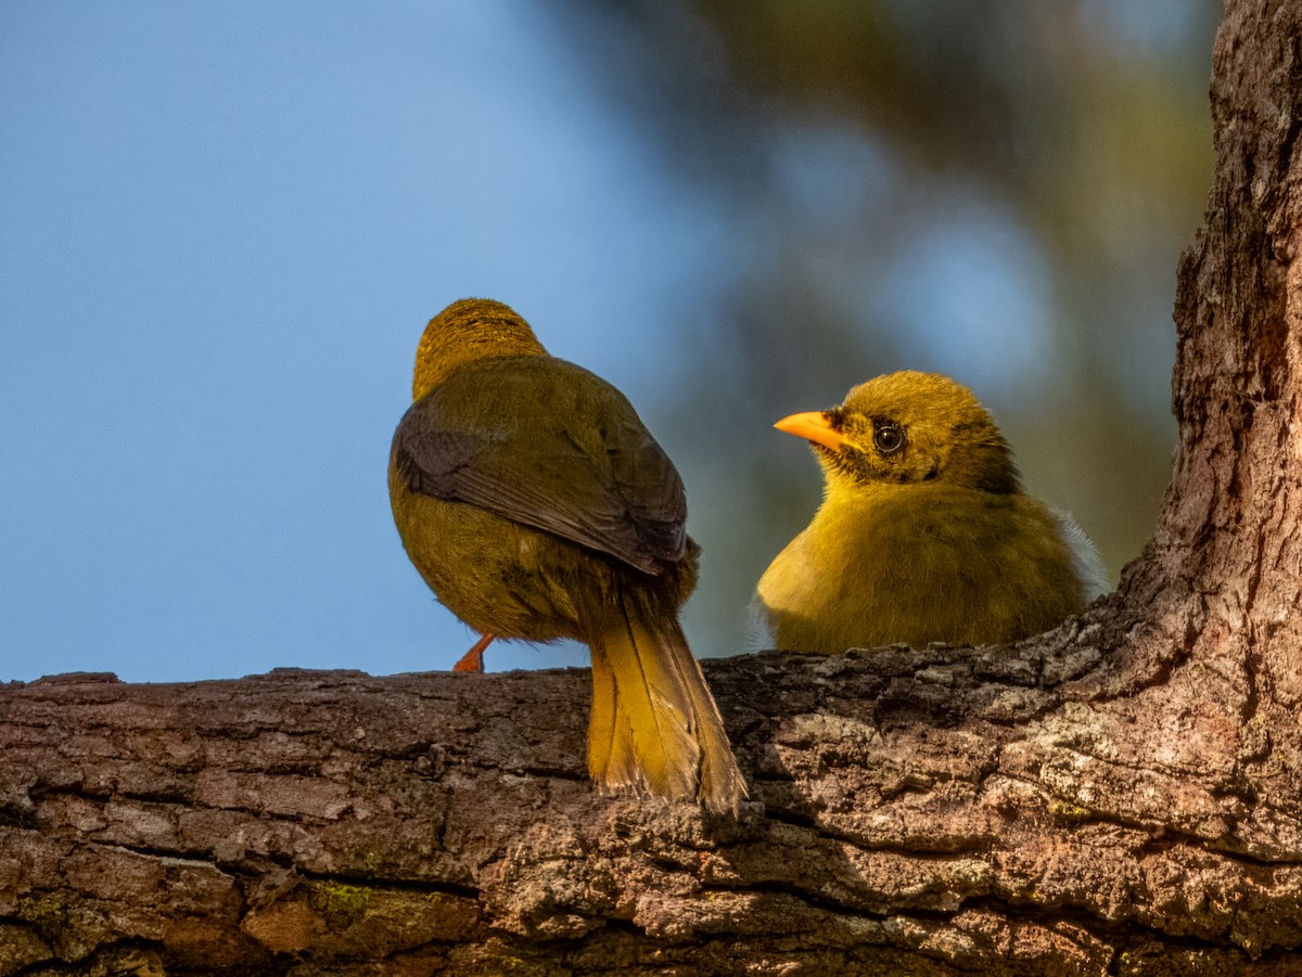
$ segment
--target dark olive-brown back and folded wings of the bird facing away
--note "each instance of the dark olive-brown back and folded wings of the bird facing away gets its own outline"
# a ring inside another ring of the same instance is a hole
[[[458,369],[411,405],[393,461],[413,492],[487,509],[646,572],[686,550],[682,480],[613,386],[552,356]]]

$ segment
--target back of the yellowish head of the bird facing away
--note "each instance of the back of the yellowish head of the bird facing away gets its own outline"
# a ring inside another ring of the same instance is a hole
[[[456,367],[491,356],[547,355],[516,310],[487,298],[464,298],[424,327],[415,350],[411,399],[419,401]]]

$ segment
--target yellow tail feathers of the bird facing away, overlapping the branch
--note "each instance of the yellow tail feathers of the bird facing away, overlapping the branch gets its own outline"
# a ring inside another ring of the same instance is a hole
[[[620,610],[590,643],[589,773],[605,790],[695,797],[736,813],[746,782],[682,628],[639,596],[624,596]]]

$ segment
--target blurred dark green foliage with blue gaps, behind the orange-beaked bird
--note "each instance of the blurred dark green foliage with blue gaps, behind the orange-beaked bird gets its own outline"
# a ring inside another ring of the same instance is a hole
[[[1169,476],[1177,256],[1211,178],[1215,0],[570,0],[566,36],[730,242],[647,405],[706,550],[699,653],[818,503],[769,428],[897,368],[974,388],[1113,574]],[[672,381],[672,386],[669,382]],[[900,558],[907,558],[900,554]]]

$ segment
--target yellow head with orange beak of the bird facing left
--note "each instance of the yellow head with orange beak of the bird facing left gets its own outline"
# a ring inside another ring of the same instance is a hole
[[[807,438],[833,485],[941,483],[1019,492],[1013,453],[971,390],[905,371],[859,384],[838,407],[793,414],[779,431]]]

